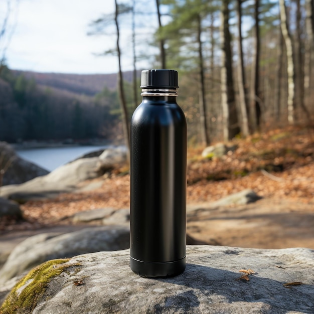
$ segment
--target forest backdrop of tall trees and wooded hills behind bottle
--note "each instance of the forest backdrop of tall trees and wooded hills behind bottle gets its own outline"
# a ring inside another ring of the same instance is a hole
[[[102,35],[99,40],[115,36],[116,45],[100,54],[104,63],[108,54],[117,57],[116,75],[13,71],[3,56],[1,140],[110,139],[123,132],[128,138],[143,60],[150,68],[179,71],[190,145],[312,125],[312,0],[115,4],[109,15],[100,8],[86,33]],[[123,58],[131,60],[132,71],[124,71]]]

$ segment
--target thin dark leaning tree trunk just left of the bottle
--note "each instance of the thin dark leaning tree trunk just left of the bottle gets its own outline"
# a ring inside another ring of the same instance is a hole
[[[118,72],[118,92],[119,92],[119,99],[122,107],[122,124],[123,124],[123,133],[125,137],[125,144],[130,149],[130,132],[129,132],[129,125],[128,125],[128,114],[127,114],[127,106],[125,101],[124,95],[124,88],[123,88],[123,75],[121,70],[121,51],[119,45],[120,39],[120,32],[119,32],[119,23],[118,23],[118,4],[117,0],[115,0],[115,15],[114,15],[114,22],[117,31],[117,41],[116,41],[116,48],[117,48],[117,55],[118,55],[118,63],[119,63],[119,72]]]

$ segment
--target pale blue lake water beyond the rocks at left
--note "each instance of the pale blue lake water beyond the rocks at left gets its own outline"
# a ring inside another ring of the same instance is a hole
[[[17,150],[17,154],[48,171],[53,171],[81,155],[108,148],[108,146],[76,146],[57,148],[32,148]]]

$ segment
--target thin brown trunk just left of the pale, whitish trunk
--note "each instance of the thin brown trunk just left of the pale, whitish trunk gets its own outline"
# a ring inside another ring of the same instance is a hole
[[[283,57],[283,40],[281,31],[278,36],[277,46],[277,64],[276,64],[276,79],[275,79],[275,94],[274,94],[274,117],[275,121],[280,119],[281,109],[281,75],[282,75],[282,57]]]

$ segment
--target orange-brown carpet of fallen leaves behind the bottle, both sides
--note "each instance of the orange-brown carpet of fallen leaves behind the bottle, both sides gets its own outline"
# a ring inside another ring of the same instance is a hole
[[[314,211],[313,129],[276,129],[234,139],[227,145],[237,145],[237,149],[222,158],[203,159],[202,148],[189,149],[188,204],[211,202],[249,188],[269,199],[269,204],[274,198],[285,198],[313,204]],[[3,220],[0,230],[52,224],[90,209],[128,208],[129,175],[122,171],[115,170],[94,180],[101,181],[102,187],[93,191],[28,202],[22,205],[27,222]]]

